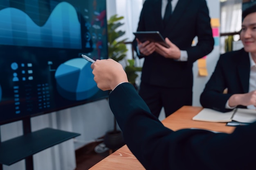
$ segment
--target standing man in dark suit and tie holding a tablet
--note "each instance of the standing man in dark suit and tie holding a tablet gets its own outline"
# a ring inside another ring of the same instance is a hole
[[[192,105],[193,62],[213,50],[209,10],[205,0],[146,0],[137,32],[158,31],[169,48],[134,39],[139,58],[144,57],[139,95],[158,118],[164,107],[169,116]],[[196,46],[191,46],[198,37]]]

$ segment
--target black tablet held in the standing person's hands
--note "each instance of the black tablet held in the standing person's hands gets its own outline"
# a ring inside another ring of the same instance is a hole
[[[165,46],[166,48],[169,48],[169,45],[166,44],[164,41],[164,38],[159,33],[159,31],[138,31],[136,33],[133,33],[139,41],[150,41],[150,42],[157,42],[161,44],[162,46]]]

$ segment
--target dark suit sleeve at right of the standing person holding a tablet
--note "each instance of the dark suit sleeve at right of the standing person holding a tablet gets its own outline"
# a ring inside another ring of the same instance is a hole
[[[196,46],[192,46],[189,49],[184,49],[188,53],[189,62],[194,62],[197,59],[200,59],[209,54],[213,50],[214,46],[211,19],[209,17],[209,9],[207,7],[206,1],[198,1],[197,5],[200,5],[200,7],[198,7],[198,13],[196,14],[197,22],[195,23],[198,43]]]

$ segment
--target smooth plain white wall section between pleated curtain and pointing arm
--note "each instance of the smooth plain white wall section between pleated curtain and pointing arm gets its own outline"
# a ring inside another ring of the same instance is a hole
[[[71,115],[73,131],[81,134],[76,137],[76,148],[114,129],[114,116],[107,99],[74,107]]]

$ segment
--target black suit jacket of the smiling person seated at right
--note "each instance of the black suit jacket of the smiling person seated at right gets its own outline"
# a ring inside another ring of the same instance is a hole
[[[243,48],[220,55],[216,68],[200,96],[202,107],[222,112],[230,111],[225,109],[227,100],[233,94],[249,92],[249,76],[249,54]],[[228,89],[228,94],[223,94],[225,88]]]

